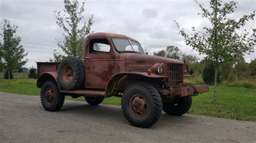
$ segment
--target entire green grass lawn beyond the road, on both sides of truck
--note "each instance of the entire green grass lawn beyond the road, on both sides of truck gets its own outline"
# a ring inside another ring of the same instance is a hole
[[[36,80],[31,78],[14,78],[11,86],[8,80],[0,78],[0,91],[26,95],[39,95]],[[256,88],[228,87],[219,85],[217,103],[212,103],[213,87],[210,92],[193,97],[193,104],[188,113],[223,117],[237,120],[256,121]],[[73,99],[67,96],[66,99]],[[84,97],[73,100],[84,101]],[[121,98],[104,99],[104,104],[120,105]]]

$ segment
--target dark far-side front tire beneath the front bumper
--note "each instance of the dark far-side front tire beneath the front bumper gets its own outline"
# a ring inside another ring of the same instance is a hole
[[[163,103],[163,110],[168,115],[181,116],[190,110],[192,96],[176,97],[172,102]]]

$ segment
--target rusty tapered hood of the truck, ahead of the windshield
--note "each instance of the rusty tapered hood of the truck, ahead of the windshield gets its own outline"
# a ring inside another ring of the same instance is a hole
[[[126,64],[156,64],[156,63],[177,63],[184,64],[182,61],[168,59],[160,56],[145,55],[139,53],[129,53],[125,56]]]

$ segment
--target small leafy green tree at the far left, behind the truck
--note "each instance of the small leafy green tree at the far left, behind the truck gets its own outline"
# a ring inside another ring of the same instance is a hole
[[[18,26],[10,25],[10,22],[4,19],[3,28],[3,44],[0,47],[1,66],[5,71],[8,71],[8,79],[10,85],[10,72],[25,65],[28,59],[23,60],[28,53],[22,45],[20,45],[21,37],[15,35]]]

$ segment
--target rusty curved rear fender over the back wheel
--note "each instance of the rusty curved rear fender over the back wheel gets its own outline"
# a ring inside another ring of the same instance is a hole
[[[45,81],[54,80],[54,81],[56,81],[56,83],[58,84],[58,87],[59,87],[57,78],[58,78],[57,71],[45,72],[45,73],[39,75],[39,77],[37,78],[36,86],[38,88],[41,88]],[[60,90],[60,87],[59,87],[59,90]]]

